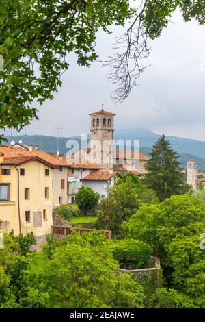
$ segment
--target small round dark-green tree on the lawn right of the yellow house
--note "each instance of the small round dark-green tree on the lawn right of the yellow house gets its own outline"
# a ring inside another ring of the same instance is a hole
[[[75,203],[81,212],[87,216],[87,212],[92,210],[98,203],[100,195],[95,193],[90,187],[81,187],[75,196]]]

